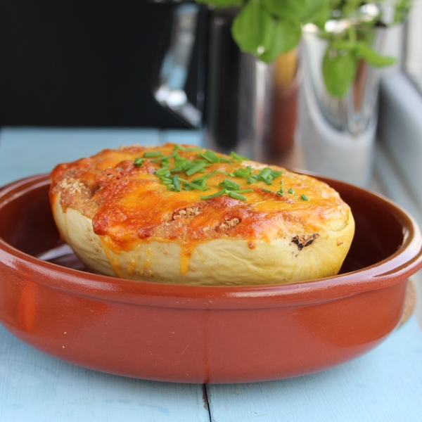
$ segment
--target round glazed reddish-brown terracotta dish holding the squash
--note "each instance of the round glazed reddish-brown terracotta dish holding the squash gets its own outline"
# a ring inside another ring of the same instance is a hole
[[[356,220],[340,275],[249,287],[128,281],[39,260],[60,245],[49,177],[10,184],[0,192],[1,323],[59,359],[158,381],[264,381],[347,362],[397,326],[421,234],[390,201],[323,180]]]

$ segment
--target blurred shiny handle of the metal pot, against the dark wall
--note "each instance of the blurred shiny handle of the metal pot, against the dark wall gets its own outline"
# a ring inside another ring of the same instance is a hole
[[[155,100],[161,106],[193,128],[200,127],[203,113],[188,101],[185,86],[199,13],[198,4],[181,4],[174,8],[169,48],[160,65],[158,84],[153,89]]]

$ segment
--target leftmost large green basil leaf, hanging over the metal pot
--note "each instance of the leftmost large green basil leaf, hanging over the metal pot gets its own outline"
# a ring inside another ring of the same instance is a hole
[[[273,18],[262,8],[260,0],[249,0],[234,19],[231,34],[242,51],[257,55],[272,24]]]

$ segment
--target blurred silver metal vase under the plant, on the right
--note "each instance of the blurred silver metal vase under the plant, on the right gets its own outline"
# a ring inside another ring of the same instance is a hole
[[[347,30],[348,25],[355,24],[347,20],[328,21],[325,32]],[[366,27],[364,30],[366,41],[370,40],[372,48],[381,51],[387,29]],[[315,25],[303,28],[299,139],[306,167],[328,177],[368,186],[381,70],[359,60],[350,91],[342,98],[332,96],[322,75],[328,41],[320,35]]]

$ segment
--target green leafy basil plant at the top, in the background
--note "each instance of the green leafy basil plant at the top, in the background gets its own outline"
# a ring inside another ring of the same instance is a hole
[[[350,90],[359,60],[383,67],[395,58],[382,56],[371,47],[371,29],[402,22],[412,0],[196,0],[214,8],[239,8],[231,33],[242,51],[270,63],[294,49],[302,27],[313,23],[328,41],[322,63],[326,89],[341,98]],[[388,22],[386,22],[388,15]],[[330,31],[329,23],[348,23],[344,30]],[[328,25],[327,25],[328,23]]]

